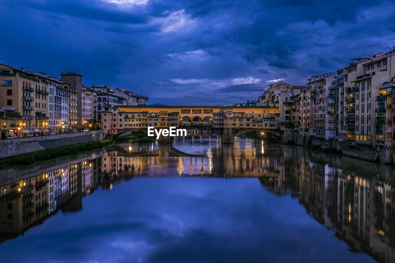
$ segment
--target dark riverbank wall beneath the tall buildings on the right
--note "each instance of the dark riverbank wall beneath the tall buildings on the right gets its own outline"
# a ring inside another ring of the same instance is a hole
[[[361,160],[371,162],[391,164],[395,161],[393,153],[391,153],[391,149],[387,149],[382,145],[376,145],[376,147],[372,147],[372,145],[368,144],[360,144],[349,141],[344,142],[338,141],[336,139],[325,140],[309,134],[293,134],[292,143],[308,148],[320,147],[327,149],[328,151],[332,150],[333,152],[345,156],[359,158]]]

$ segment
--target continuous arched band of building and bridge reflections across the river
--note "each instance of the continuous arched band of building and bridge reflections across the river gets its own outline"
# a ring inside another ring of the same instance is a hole
[[[258,177],[251,180],[272,194],[298,198],[353,251],[395,262],[394,174],[386,165],[241,137],[221,145],[198,132],[173,145],[123,143],[53,163],[37,165],[37,173],[0,171],[0,242],[59,210],[79,211],[86,195],[134,177]]]

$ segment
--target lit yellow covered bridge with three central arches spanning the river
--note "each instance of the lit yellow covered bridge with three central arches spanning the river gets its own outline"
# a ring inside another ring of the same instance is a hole
[[[235,136],[247,131],[256,131],[261,138],[281,139],[284,135],[279,125],[279,107],[115,106],[109,115],[112,122],[107,117],[102,126],[120,137],[132,131],[147,132],[148,127],[209,130],[220,135],[222,143],[233,143]],[[159,142],[171,143],[171,139],[161,135]]]

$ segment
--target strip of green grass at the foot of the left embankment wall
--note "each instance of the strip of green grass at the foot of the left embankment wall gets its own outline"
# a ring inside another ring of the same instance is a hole
[[[78,154],[82,151],[103,148],[106,145],[112,144],[112,141],[93,141],[90,143],[80,143],[75,145],[62,146],[38,152],[30,152],[26,154],[19,154],[0,159],[0,169],[10,168],[15,165],[32,164],[38,161],[44,161],[60,156]]]

